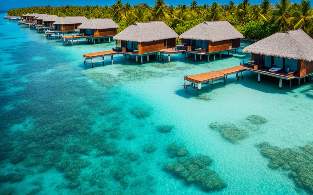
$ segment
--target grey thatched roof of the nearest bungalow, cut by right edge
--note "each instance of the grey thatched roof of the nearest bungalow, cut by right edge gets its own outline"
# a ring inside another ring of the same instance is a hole
[[[303,30],[277,32],[245,47],[245,53],[313,61],[313,39]]]

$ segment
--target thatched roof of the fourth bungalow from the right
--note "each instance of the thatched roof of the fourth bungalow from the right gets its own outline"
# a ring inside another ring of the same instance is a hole
[[[78,29],[108,29],[108,28],[119,28],[111,18],[91,18],[86,22],[82,23]]]

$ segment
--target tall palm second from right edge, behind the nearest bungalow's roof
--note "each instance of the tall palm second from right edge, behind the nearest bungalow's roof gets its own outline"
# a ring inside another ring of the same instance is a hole
[[[288,0],[280,0],[280,3],[276,3],[275,11],[273,13],[275,24],[280,25],[280,31],[283,29],[286,31],[291,26],[291,4]]]

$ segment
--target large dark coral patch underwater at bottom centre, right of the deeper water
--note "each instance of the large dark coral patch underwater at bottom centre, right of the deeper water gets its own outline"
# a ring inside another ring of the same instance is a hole
[[[183,178],[187,183],[201,186],[205,191],[226,188],[226,183],[218,174],[208,168],[212,161],[206,155],[196,155],[191,158],[179,158],[174,162],[168,162],[164,169]]]

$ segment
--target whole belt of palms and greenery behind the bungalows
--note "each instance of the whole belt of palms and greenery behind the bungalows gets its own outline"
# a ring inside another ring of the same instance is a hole
[[[190,5],[167,5],[164,0],[156,0],[154,6],[146,3],[130,5],[118,0],[111,6],[59,6],[24,7],[11,9],[8,15],[19,16],[26,13],[47,13],[49,15],[85,16],[87,18],[110,17],[120,25],[119,31],[134,22],[164,21],[175,32],[181,34],[208,20],[227,20],[246,38],[262,39],[269,35],[286,30],[303,29],[313,37],[313,8],[309,1],[302,0],[291,3],[280,0],[275,5],[269,0],[252,5],[249,0],[243,0],[238,5],[229,4],[199,5],[192,1]]]

